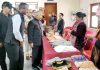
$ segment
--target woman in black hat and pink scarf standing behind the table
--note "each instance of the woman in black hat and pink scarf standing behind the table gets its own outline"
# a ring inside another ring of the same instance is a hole
[[[82,51],[84,47],[84,37],[86,33],[86,24],[83,20],[84,17],[86,17],[85,13],[76,13],[76,22],[71,31],[72,43],[80,51]]]

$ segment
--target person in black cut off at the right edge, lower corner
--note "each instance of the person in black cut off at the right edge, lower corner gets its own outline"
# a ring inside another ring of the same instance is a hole
[[[92,50],[91,61],[93,61],[95,66],[100,69],[100,39],[96,41]]]

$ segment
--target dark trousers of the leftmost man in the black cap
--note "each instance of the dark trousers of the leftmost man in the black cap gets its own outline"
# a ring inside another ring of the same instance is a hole
[[[6,51],[5,47],[3,46],[2,48],[0,48],[0,65],[2,70],[7,70],[5,59],[6,59]]]

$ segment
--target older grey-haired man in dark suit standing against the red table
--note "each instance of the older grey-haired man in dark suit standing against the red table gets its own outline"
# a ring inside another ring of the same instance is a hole
[[[28,24],[28,41],[32,47],[32,67],[39,70],[37,67],[42,59],[42,30],[41,22],[42,13],[35,12],[34,19]]]

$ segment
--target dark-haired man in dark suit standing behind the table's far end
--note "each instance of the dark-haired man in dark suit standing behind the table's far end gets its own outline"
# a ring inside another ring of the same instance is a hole
[[[60,13],[60,14],[59,14],[57,32],[59,33],[59,35],[61,35],[61,36],[63,35],[63,32],[64,32],[63,13]]]

